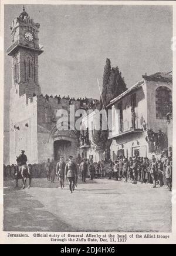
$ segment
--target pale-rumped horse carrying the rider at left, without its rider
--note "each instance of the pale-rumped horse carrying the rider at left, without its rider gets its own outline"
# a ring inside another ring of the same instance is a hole
[[[23,186],[22,188],[25,188],[26,179],[29,178],[29,185],[28,188],[31,187],[31,172],[29,170],[28,165],[23,164],[21,166],[18,166],[18,169],[16,170],[16,188],[18,188],[18,179],[22,178]]]

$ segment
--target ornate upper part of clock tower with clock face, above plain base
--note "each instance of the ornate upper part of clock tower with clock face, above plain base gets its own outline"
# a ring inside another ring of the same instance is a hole
[[[38,56],[43,52],[38,38],[40,24],[33,22],[23,6],[23,12],[13,19],[10,28],[12,44],[7,54],[12,56],[11,97],[39,95]]]

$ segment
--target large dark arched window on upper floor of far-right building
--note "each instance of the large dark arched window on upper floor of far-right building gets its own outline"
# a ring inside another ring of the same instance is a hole
[[[167,119],[168,105],[172,102],[172,92],[167,87],[158,87],[155,92],[156,119]]]

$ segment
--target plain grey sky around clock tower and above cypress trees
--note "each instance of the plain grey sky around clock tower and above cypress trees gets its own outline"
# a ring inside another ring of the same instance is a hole
[[[5,50],[22,5],[5,5]],[[154,5],[25,5],[40,23],[39,84],[43,94],[100,99],[106,58],[127,87],[142,75],[172,70],[172,7]],[[11,56],[4,59],[5,129],[9,120]]]

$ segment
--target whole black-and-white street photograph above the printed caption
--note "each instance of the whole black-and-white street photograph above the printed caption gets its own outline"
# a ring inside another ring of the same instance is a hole
[[[4,231],[172,232],[172,33],[172,5],[4,5]]]

